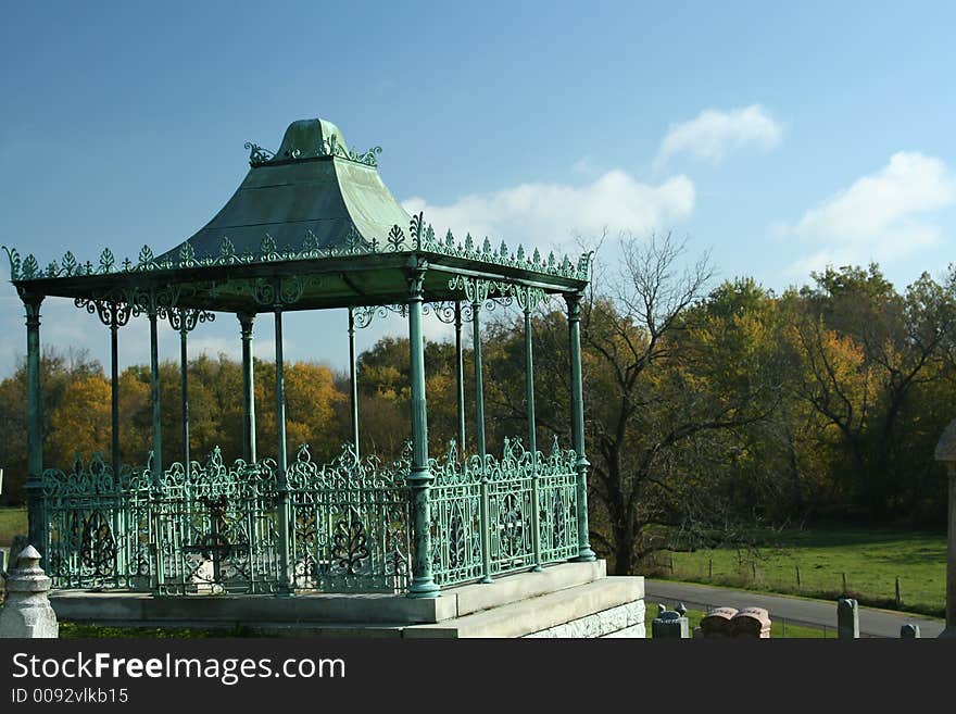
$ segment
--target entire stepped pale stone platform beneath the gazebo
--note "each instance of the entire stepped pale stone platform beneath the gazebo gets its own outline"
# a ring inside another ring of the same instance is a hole
[[[242,627],[267,637],[644,637],[644,578],[562,563],[440,598],[382,593],[156,597],[53,590],[59,619],[114,627]]]

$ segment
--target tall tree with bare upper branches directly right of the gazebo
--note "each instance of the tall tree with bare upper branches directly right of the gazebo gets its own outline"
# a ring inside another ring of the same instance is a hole
[[[700,356],[688,333],[713,276],[708,256],[684,263],[685,241],[669,234],[626,236],[619,248],[620,271],[609,278],[599,271],[591,284],[582,340],[598,511],[592,542],[613,555],[617,574],[627,574],[664,544],[649,526],[680,519],[674,477],[685,460],[678,452],[692,452],[697,435],[749,424],[766,411],[752,390],[715,398],[688,377]]]

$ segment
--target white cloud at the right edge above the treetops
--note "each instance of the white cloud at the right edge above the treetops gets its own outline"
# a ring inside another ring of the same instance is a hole
[[[826,265],[904,258],[939,241],[940,228],[927,214],[954,203],[956,176],[941,160],[917,151],[894,153],[880,171],[780,229],[783,237],[815,247],[790,272],[806,275]]]

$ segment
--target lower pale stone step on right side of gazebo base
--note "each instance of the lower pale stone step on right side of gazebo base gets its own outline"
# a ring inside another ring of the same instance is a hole
[[[643,597],[643,577],[602,578],[440,623],[412,625],[402,630],[402,637],[525,637]]]

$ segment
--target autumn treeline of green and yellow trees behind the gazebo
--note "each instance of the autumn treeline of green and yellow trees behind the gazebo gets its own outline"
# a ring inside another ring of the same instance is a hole
[[[716,544],[742,524],[853,518],[943,523],[945,478],[933,447],[956,416],[956,292],[923,275],[902,292],[876,265],[828,268],[782,295],[750,278],[707,290],[705,262],[678,270],[669,239],[624,241],[622,267],[584,297],[582,347],[592,544],[618,573],[667,544]],[[552,302],[534,320],[538,443],[569,416],[567,321]],[[527,443],[524,326],[496,310],[485,329],[489,452]],[[467,331],[467,330],[466,330]],[[466,362],[466,451],[474,452],[474,365]],[[457,433],[455,351],[426,349],[429,441],[443,453]],[[45,463],[74,453],[109,461],[110,383],[83,356],[46,352],[41,364]],[[179,366],[161,366],[164,463],[181,460]],[[259,453],[276,452],[275,366],[255,362]],[[358,360],[363,452],[401,453],[410,438],[408,343],[382,338]],[[286,367],[290,453],[310,443],[332,459],[350,440],[348,375]],[[189,363],[190,442],[202,460],[219,446],[242,455],[241,369]],[[121,460],[142,464],[151,441],[150,376],[120,378]],[[0,383],[3,501],[17,503],[26,468],[25,369]]]

